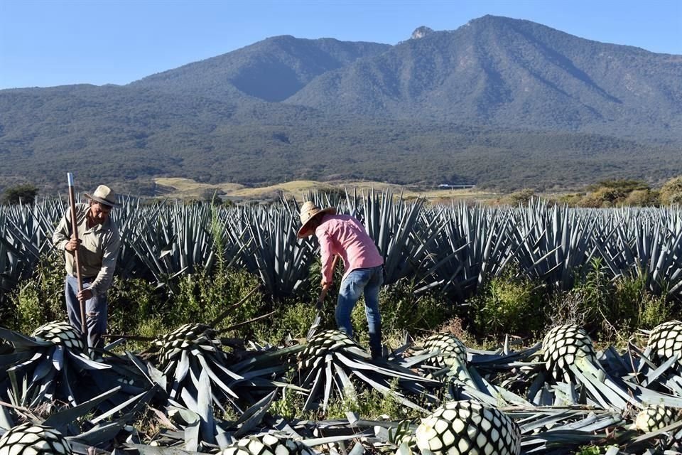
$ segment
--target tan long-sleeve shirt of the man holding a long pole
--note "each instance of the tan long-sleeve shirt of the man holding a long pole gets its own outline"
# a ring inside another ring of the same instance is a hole
[[[87,228],[87,211],[90,205],[76,204],[76,223],[78,238],[82,241],[78,249],[78,262],[80,262],[81,277],[94,277],[90,285],[93,295],[104,294],[112,284],[116,259],[119,255],[121,235],[119,229],[112,222],[112,218],[101,225]],[[71,239],[71,210],[67,210],[60,220],[52,242],[64,252],[66,259],[66,272],[76,276],[76,262],[72,252],[65,250],[67,242]]]

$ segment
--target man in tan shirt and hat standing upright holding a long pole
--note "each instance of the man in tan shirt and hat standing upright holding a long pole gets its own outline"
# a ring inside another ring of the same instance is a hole
[[[70,210],[64,214],[52,236],[55,247],[64,251],[66,279],[64,294],[71,326],[81,333],[80,301],[85,301],[87,345],[102,348],[102,336],[107,331],[107,289],[112,284],[121,236],[109,217],[112,208],[119,205],[116,195],[107,186],[100,185],[92,193],[85,193],[90,201],[76,204],[78,240],[72,237]],[[74,252],[78,250],[82,291],[78,280]],[[82,333],[81,333],[82,335]]]

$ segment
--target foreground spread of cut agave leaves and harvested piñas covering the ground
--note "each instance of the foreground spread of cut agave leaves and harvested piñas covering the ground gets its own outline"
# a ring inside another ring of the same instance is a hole
[[[623,352],[597,351],[582,328],[563,325],[531,348],[474,350],[438,333],[375,361],[333,330],[303,344],[237,348],[211,326],[185,324],[144,352],[116,348],[121,341],[85,352],[72,328],[55,322],[30,336],[0,328],[0,342],[0,455],[682,448],[680,321]],[[273,406],[296,394],[301,411],[324,416],[332,403],[357,402],[372,389],[420,417],[301,420]]]

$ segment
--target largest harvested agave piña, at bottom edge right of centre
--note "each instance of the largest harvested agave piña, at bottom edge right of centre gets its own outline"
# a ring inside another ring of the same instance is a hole
[[[415,432],[422,452],[448,455],[518,455],[521,430],[506,414],[474,401],[447,402]]]

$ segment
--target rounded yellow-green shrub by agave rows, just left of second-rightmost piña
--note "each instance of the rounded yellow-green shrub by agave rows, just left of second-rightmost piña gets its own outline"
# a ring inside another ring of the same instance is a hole
[[[527,277],[507,272],[469,299],[479,335],[529,335],[545,327],[540,289]]]

